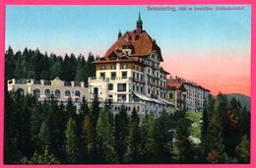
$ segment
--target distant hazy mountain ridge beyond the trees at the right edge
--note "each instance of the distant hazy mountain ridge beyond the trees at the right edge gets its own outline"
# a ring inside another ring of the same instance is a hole
[[[245,106],[248,111],[251,110],[251,97],[240,93],[229,93],[224,95],[226,95],[228,101],[230,101],[230,99],[234,97],[236,101],[239,101],[241,105]]]

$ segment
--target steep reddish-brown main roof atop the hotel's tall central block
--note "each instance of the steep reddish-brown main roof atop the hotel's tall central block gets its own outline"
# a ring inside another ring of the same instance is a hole
[[[160,47],[155,39],[143,30],[138,32],[136,29],[133,31],[125,32],[117,41],[106,51],[105,57],[109,56],[113,51],[122,49],[123,45],[130,46],[132,48],[131,56],[148,56],[153,50],[160,55],[160,61],[162,60]]]

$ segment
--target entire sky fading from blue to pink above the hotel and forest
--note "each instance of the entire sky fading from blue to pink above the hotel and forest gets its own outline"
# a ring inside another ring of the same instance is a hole
[[[251,6],[222,11],[164,7],[176,12],[148,6],[7,6],[5,47],[103,56],[119,29],[136,28],[140,11],[143,28],[160,46],[161,66],[172,77],[201,84],[213,94],[250,96]]]

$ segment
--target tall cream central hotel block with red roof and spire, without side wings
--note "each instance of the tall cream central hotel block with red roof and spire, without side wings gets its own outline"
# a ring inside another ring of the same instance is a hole
[[[113,110],[120,105],[128,111],[136,108],[142,114],[159,116],[174,104],[167,100],[166,76],[157,41],[143,29],[139,15],[136,28],[121,34],[96,63],[96,77],[89,78],[90,99],[97,94],[100,100],[111,99]]]

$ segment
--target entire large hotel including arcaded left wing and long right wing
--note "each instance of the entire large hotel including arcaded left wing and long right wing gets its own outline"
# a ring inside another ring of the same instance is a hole
[[[84,83],[72,82],[67,85],[55,79],[50,84],[17,80],[8,81],[8,90],[23,89],[39,99],[52,92],[59,100],[73,96],[81,100],[86,96],[89,102],[97,94],[101,102],[111,99],[112,110],[119,111],[125,105],[127,111],[136,108],[139,114],[160,115],[162,110],[173,112],[176,109],[202,111],[209,90],[197,84],[180,79],[166,80],[169,75],[162,67],[160,46],[143,28],[139,14],[136,28],[118,33],[117,40],[95,61],[96,77],[90,77],[88,87]]]

